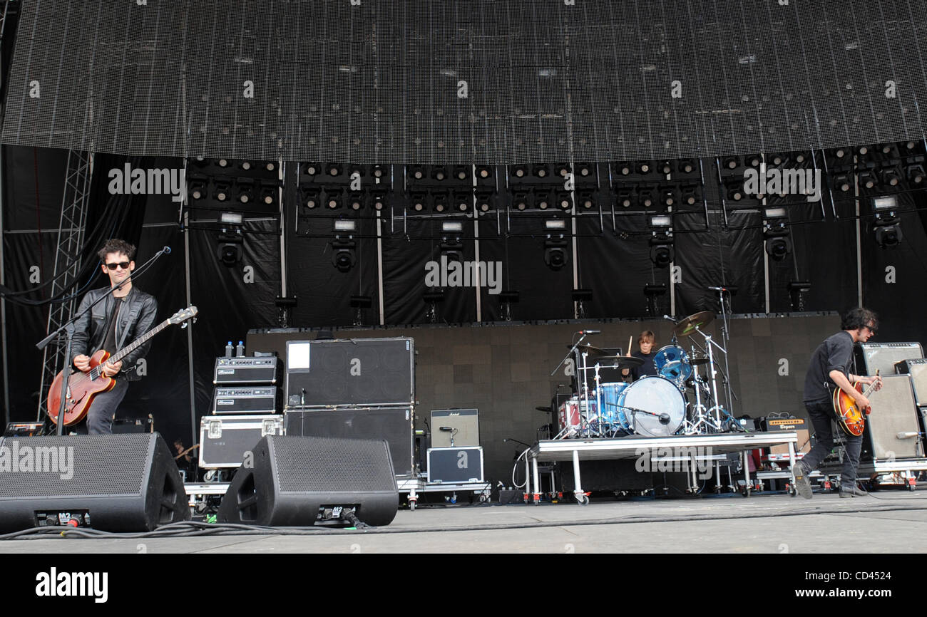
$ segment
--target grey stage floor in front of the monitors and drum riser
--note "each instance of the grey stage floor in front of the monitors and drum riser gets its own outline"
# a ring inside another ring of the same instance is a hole
[[[309,535],[0,541],[0,553],[909,553],[927,552],[927,490],[841,499],[781,494],[455,505],[387,527]],[[834,538],[840,530],[844,540]]]

